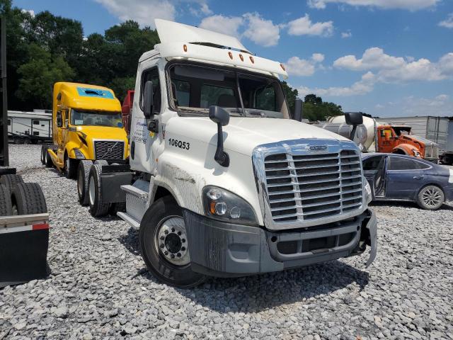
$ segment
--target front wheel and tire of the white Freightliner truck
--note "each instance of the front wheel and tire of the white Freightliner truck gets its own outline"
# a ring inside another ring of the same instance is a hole
[[[185,222],[175,200],[159,198],[145,212],[139,229],[142,257],[151,273],[169,285],[195,287],[206,276],[190,266]]]

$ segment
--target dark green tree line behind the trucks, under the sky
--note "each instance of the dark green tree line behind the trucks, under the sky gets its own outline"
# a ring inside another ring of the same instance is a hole
[[[33,15],[13,7],[12,0],[0,0],[0,14],[6,17],[8,108],[14,110],[51,108],[57,81],[107,86],[122,101],[134,88],[139,57],[159,43],[156,30],[135,21],[85,37],[80,21],[50,11]],[[297,89],[282,84],[294,111]],[[314,94],[304,98],[304,118],[324,120],[342,113],[341,106]]]

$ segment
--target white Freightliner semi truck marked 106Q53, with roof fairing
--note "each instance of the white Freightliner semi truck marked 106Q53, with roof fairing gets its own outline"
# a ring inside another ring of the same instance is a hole
[[[125,202],[117,215],[139,229],[149,270],[180,287],[370,246],[368,266],[377,222],[357,145],[291,119],[282,64],[228,35],[156,28],[161,43],[137,70],[130,164],[91,166],[91,213]]]

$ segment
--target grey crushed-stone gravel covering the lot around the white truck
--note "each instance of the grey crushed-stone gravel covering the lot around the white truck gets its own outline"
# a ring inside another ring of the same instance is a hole
[[[11,165],[41,184],[50,211],[46,280],[0,290],[0,339],[453,339],[453,208],[374,205],[368,254],[181,290],[144,267],[137,232],[94,219],[76,183],[11,145]]]

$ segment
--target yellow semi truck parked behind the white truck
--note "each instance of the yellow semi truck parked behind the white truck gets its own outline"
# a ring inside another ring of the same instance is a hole
[[[121,104],[106,87],[56,83],[52,128],[54,145],[44,146],[42,156],[68,178],[76,176],[81,160],[120,163],[128,157]]]

